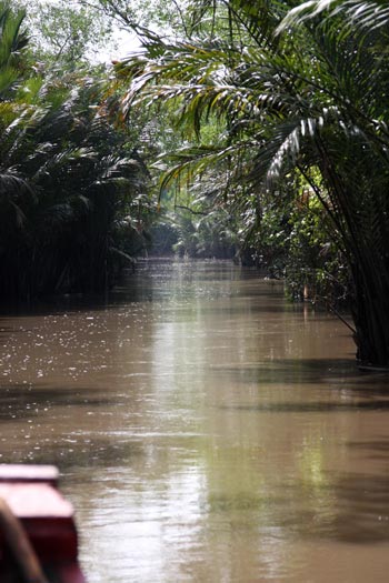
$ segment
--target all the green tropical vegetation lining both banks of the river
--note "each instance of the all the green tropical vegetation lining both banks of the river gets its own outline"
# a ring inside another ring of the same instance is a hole
[[[389,365],[386,2],[19,6],[0,1],[2,298],[102,291],[153,233],[347,300],[358,359]],[[116,27],[139,50],[113,74]]]

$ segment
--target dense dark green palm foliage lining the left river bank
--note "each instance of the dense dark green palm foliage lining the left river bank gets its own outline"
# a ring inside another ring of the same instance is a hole
[[[0,295],[102,291],[151,210],[136,131],[106,71],[37,70],[23,19],[0,4]]]

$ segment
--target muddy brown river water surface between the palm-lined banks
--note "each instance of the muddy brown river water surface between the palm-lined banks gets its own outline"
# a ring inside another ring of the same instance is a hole
[[[0,319],[1,460],[56,463],[91,583],[387,581],[387,379],[228,263]]]

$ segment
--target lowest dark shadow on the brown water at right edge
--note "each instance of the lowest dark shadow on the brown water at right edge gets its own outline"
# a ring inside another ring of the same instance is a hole
[[[260,531],[276,530],[296,542],[372,545],[389,541],[389,476],[375,473],[328,473],[323,484],[286,483],[265,495],[213,495],[209,507],[219,515],[232,512],[235,529],[239,521],[245,526],[253,521]]]

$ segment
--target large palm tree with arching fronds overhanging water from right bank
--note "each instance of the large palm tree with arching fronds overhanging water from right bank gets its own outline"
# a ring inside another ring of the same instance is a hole
[[[216,164],[246,184],[236,197],[253,192],[260,204],[263,189],[299,172],[348,260],[358,359],[388,366],[388,8],[197,0],[191,13],[191,38],[146,34],[143,51],[118,66],[131,79],[124,109],[173,102],[200,139],[174,153],[164,184]],[[205,145],[210,118],[220,137]]]

